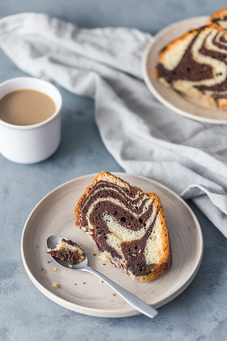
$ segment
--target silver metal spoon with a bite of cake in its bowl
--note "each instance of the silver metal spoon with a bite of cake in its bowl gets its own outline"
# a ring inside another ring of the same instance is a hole
[[[46,246],[47,249],[55,249],[58,241],[60,239],[66,239],[68,240],[69,238],[62,237],[62,236],[49,236],[46,241]],[[75,243],[75,241],[74,241]],[[76,243],[75,243],[76,244]],[[78,244],[77,244],[78,245]],[[78,245],[79,246],[79,245]],[[79,246],[81,248],[81,246]],[[82,249],[82,248],[81,248]],[[83,249],[82,249],[83,250]],[[84,250],[83,250],[84,251]],[[52,260],[59,265],[61,265],[63,268],[69,269],[69,270],[81,270],[81,271],[88,271],[90,273],[93,273],[93,275],[99,277],[103,282],[108,284],[116,293],[118,293],[128,304],[130,304],[133,308],[137,309],[140,311],[142,314],[147,315],[148,317],[155,317],[157,315],[157,310],[149,306],[149,304],[145,303],[142,301],[139,297],[133,295],[126,289],[122,288],[119,284],[111,281],[108,277],[104,276],[102,273],[99,271],[92,269],[88,266],[88,258],[86,255],[86,252],[84,251],[84,259],[82,262],[74,264],[73,267],[70,267],[68,261],[62,261],[60,258],[52,257]]]

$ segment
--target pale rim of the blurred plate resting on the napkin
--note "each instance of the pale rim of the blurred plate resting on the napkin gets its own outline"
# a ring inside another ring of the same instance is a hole
[[[191,20],[194,19],[201,19],[201,20],[206,20],[209,18],[209,16],[207,15],[201,15],[201,16],[196,16],[196,17],[192,17],[192,18],[186,18],[183,20],[179,20],[176,21],[175,23],[172,23],[166,27],[164,27],[162,30],[158,31],[152,38],[152,40],[150,40],[147,45],[145,46],[145,49],[143,50],[142,53],[142,58],[141,58],[141,71],[142,71],[142,76],[143,76],[143,80],[145,81],[145,84],[147,85],[148,89],[150,90],[150,92],[154,95],[154,97],[160,101],[162,104],[164,104],[167,108],[171,109],[173,112],[180,114],[184,117],[190,118],[192,120],[195,121],[199,121],[199,122],[205,122],[205,123],[212,123],[212,124],[227,124],[227,119],[215,119],[215,118],[206,118],[206,117],[201,117],[201,116],[197,116],[194,114],[191,114],[189,112],[187,112],[186,110],[180,109],[177,106],[175,106],[174,104],[172,104],[171,102],[169,102],[168,100],[166,100],[165,98],[163,98],[162,94],[160,92],[158,92],[156,90],[156,88],[154,87],[152,80],[149,77],[149,72],[148,72],[148,59],[149,59],[149,55],[152,49],[153,44],[160,38],[160,36],[162,36],[166,31],[169,31],[169,29],[173,29],[176,26],[178,26],[179,24],[182,24],[184,22],[189,22]],[[206,110],[206,109],[205,109]]]

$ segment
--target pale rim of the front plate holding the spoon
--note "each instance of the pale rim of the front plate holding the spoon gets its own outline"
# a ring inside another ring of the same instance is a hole
[[[196,273],[198,272],[198,269],[200,267],[201,261],[202,261],[202,256],[203,256],[203,235],[202,235],[202,230],[199,224],[199,221],[195,215],[195,213],[193,212],[193,210],[191,209],[191,207],[184,201],[184,199],[182,199],[176,192],[174,192],[173,190],[171,190],[170,188],[168,188],[167,186],[163,185],[162,183],[141,176],[141,175],[136,175],[136,174],[131,174],[131,173],[124,173],[124,172],[111,172],[112,174],[116,175],[116,176],[124,176],[126,175],[132,175],[132,176],[136,176],[138,178],[141,178],[143,180],[148,180],[150,182],[156,183],[158,185],[161,185],[162,188],[164,188],[165,190],[171,192],[173,195],[175,195],[178,199],[180,199],[180,201],[186,206],[186,208],[189,210],[189,212],[191,213],[194,221],[195,221],[195,225],[196,228],[198,230],[198,236],[199,236],[199,251],[200,251],[200,255],[199,258],[197,259],[197,263],[194,267],[194,271],[192,273],[192,275],[188,278],[188,280],[177,290],[175,291],[172,295],[168,296],[167,298],[162,299],[161,301],[159,301],[157,303],[157,305],[153,306],[154,308],[160,308],[161,306],[167,304],[168,302],[170,302],[172,299],[176,298],[178,295],[180,295],[185,289],[186,287],[192,282],[192,280],[194,279],[194,277],[196,276]],[[85,178],[89,178],[89,177],[95,177],[97,175],[97,173],[92,173],[92,174],[87,174],[87,175],[82,175],[79,177],[76,177],[74,179],[71,179],[69,181],[66,181],[62,184],[60,184],[59,186],[57,186],[56,188],[54,188],[53,190],[51,190],[49,193],[47,193],[36,205],[35,207],[32,209],[31,213],[29,214],[26,223],[24,225],[23,231],[22,231],[22,235],[21,235],[21,243],[20,243],[20,247],[21,247],[21,258],[22,258],[22,262],[25,268],[25,271],[27,272],[28,277],[30,278],[30,280],[32,281],[32,283],[36,286],[36,288],[42,293],[44,294],[46,297],[48,297],[49,299],[51,299],[52,301],[54,301],[55,303],[59,304],[60,306],[66,308],[66,309],[70,309],[72,311],[81,313],[81,314],[86,314],[86,315],[91,315],[91,316],[96,316],[96,317],[127,317],[127,316],[134,316],[134,315],[139,315],[141,314],[140,312],[138,312],[137,310],[135,310],[134,308],[128,306],[128,309],[124,309],[122,311],[122,309],[117,309],[117,310],[107,310],[107,309],[97,309],[97,308],[89,308],[89,307],[84,307],[81,305],[78,305],[76,303],[72,303],[70,301],[68,301],[67,299],[61,298],[59,296],[56,296],[55,293],[52,293],[51,291],[49,291],[48,289],[46,289],[45,286],[43,286],[33,275],[32,272],[29,269],[29,266],[27,265],[26,262],[26,256],[24,253],[24,247],[23,247],[23,243],[24,243],[24,235],[26,232],[26,227],[31,219],[31,217],[33,216],[33,214],[35,213],[36,209],[39,208],[39,206],[42,204],[42,202],[46,199],[46,197],[48,197],[49,195],[51,195],[52,193],[54,193],[55,191],[58,191],[60,188],[64,187],[65,185],[75,181],[75,180],[79,180],[79,179],[85,179]]]

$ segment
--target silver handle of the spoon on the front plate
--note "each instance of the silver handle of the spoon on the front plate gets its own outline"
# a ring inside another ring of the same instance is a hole
[[[116,293],[118,293],[118,295],[120,295],[128,304],[130,304],[133,308],[140,311],[142,314],[145,314],[151,318],[154,318],[158,314],[157,310],[149,306],[149,304],[142,301],[139,297],[130,293],[126,289],[122,288],[122,286],[113,282],[111,279],[104,276],[99,271],[92,269],[89,266],[84,268],[83,270],[93,273],[93,275],[99,277],[103,282],[108,284]]]

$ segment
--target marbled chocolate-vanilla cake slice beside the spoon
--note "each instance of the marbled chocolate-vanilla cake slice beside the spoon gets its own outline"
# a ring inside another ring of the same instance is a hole
[[[98,174],[75,207],[77,225],[101,258],[141,281],[171,265],[168,229],[160,199],[108,172]]]

